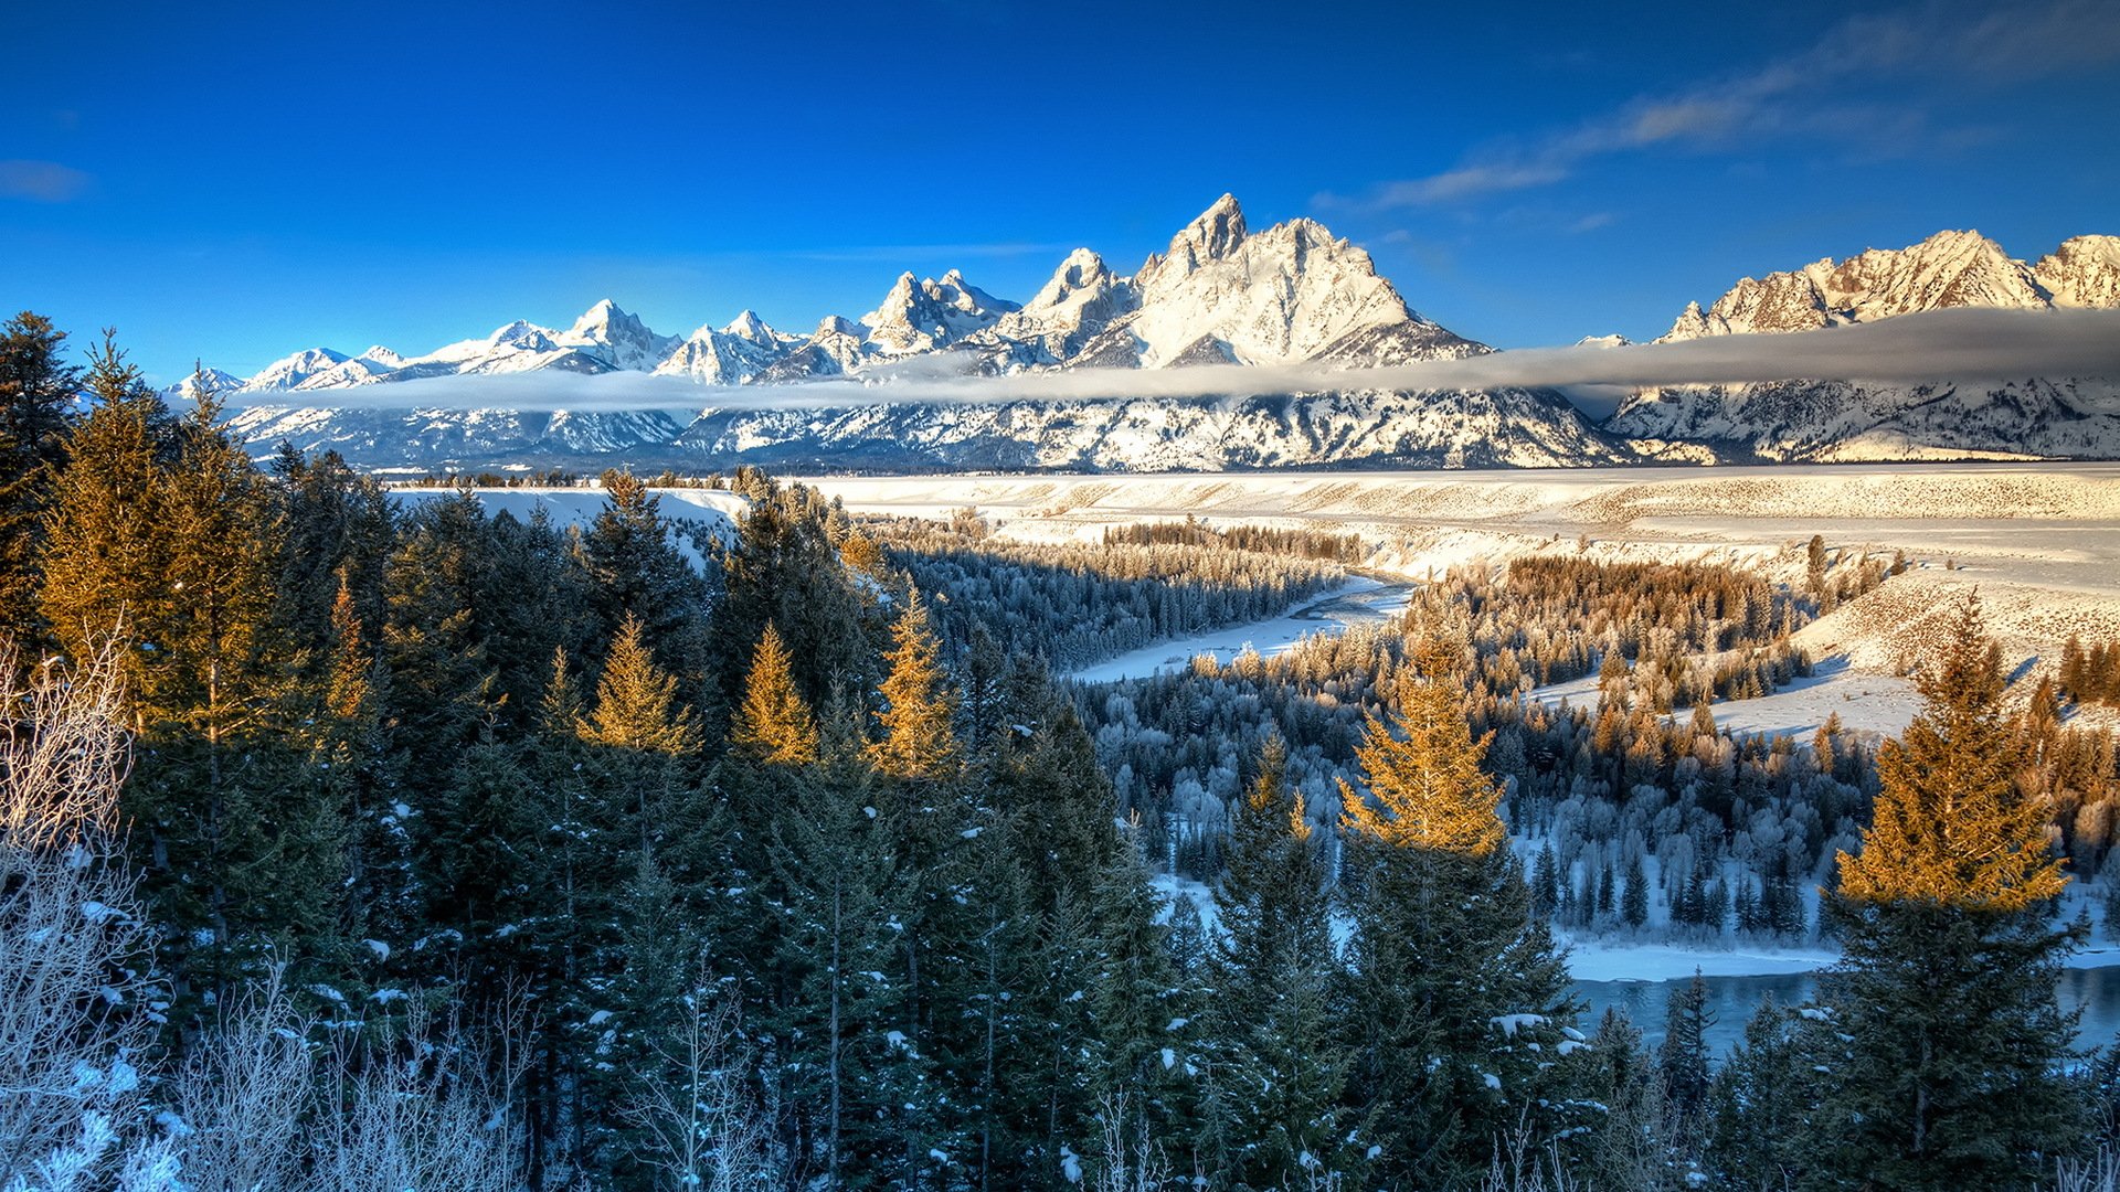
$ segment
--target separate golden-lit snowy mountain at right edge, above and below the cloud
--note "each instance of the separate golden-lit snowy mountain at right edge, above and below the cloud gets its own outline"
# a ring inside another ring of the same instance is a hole
[[[1944,308],[2120,305],[2120,238],[2078,235],[2035,265],[1978,231],[1745,278],[1685,308],[1662,341],[1815,331]],[[1647,388],[1605,428],[1692,441],[1724,458],[1889,460],[2120,456],[2120,378],[1880,386],[1770,382]]]

